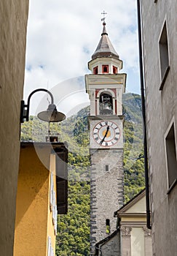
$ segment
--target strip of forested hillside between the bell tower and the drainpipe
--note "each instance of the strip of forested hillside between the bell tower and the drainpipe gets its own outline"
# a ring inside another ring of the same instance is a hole
[[[141,97],[124,94],[124,173],[125,203],[144,188],[143,170],[143,124]]]

